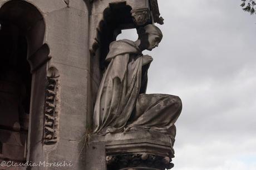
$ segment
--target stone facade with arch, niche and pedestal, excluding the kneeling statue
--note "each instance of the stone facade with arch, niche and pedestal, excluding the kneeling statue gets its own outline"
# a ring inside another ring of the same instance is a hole
[[[173,167],[166,135],[92,135],[110,43],[122,29],[155,22],[163,24],[156,0],[0,0],[0,161],[66,161],[72,168],[63,169],[88,170]]]

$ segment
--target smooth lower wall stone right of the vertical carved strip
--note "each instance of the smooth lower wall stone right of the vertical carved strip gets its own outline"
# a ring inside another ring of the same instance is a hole
[[[60,110],[58,110],[58,141],[56,145],[45,145],[43,150],[48,162],[71,162],[72,167],[83,169],[86,139],[86,81],[84,69],[52,63],[60,73]],[[35,155],[36,156],[36,155]],[[40,157],[38,157],[40,158]],[[38,161],[38,160],[37,160]],[[58,169],[60,167],[52,167]]]

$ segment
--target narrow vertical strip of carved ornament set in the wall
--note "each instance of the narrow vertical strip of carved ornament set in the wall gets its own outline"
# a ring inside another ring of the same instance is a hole
[[[58,71],[56,68],[48,69],[45,97],[45,131],[44,143],[52,145],[57,142],[57,116],[58,116]]]

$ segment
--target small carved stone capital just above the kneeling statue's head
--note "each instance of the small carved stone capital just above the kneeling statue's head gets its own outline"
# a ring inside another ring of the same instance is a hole
[[[135,9],[131,11],[131,16],[134,19],[136,25],[145,25],[147,22],[150,22],[150,11],[147,8],[144,9]]]

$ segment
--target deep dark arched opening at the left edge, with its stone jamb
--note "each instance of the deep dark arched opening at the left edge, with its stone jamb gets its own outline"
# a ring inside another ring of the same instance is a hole
[[[46,63],[45,21],[26,1],[0,8],[0,159],[26,161],[42,140]]]

